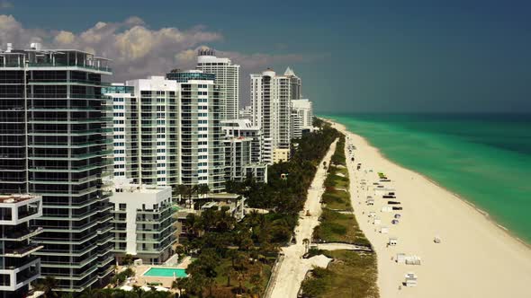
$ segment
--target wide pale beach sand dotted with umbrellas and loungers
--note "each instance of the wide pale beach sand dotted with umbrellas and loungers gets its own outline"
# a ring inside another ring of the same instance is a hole
[[[361,136],[334,126],[349,137],[347,145],[356,145],[355,162],[350,162],[346,146],[352,203],[360,227],[378,254],[378,286],[383,298],[531,297],[531,250],[525,244],[445,188],[386,160]],[[356,171],[358,162],[362,163],[360,171]],[[401,201],[403,210],[380,211],[388,199],[372,190],[378,171],[392,180],[381,184],[396,189],[397,198],[391,200]],[[363,179],[370,191],[362,188]],[[374,197],[374,206],[365,205],[366,196]],[[371,211],[389,227],[389,234],[375,232],[377,226],[372,220],[368,223]],[[396,213],[401,214],[398,225],[391,223]],[[433,241],[436,235],[442,240],[439,244]],[[386,248],[390,236],[398,238],[398,245]],[[422,265],[392,261],[400,252],[419,256]],[[399,290],[408,272],[419,277],[419,285]]]

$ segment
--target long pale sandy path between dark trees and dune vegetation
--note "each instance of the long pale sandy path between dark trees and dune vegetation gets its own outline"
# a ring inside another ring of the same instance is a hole
[[[308,198],[304,204],[304,210],[301,212],[299,225],[295,228],[296,244],[283,248],[284,260],[280,263],[278,273],[272,281],[273,291],[270,297],[272,298],[294,298],[302,284],[304,276],[313,266],[327,267],[330,259],[324,256],[315,256],[310,259],[302,259],[305,252],[302,240],[311,240],[313,229],[319,225],[319,217],[321,214],[320,197],[324,192],[323,183],[327,177],[327,171],[323,168],[322,163],[330,162],[332,154],[336,150],[335,141],[330,145],[329,152],[320,162],[319,168],[315,174],[315,178],[311,182],[311,187],[308,190]],[[310,210],[311,216],[306,216],[306,210]]]

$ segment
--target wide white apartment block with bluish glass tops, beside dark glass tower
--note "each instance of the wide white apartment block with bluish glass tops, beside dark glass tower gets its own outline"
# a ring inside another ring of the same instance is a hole
[[[224,188],[220,87],[214,74],[174,70],[114,84],[114,178],[170,186]],[[174,192],[174,197],[177,194]]]

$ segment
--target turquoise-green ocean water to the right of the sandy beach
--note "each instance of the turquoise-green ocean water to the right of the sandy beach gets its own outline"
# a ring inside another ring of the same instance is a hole
[[[365,136],[393,162],[473,202],[531,243],[531,115],[322,116]]]

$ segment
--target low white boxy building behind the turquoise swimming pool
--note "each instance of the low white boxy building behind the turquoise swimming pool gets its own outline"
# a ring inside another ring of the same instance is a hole
[[[131,255],[148,264],[166,261],[176,242],[172,188],[115,180],[112,191],[116,258]]]

